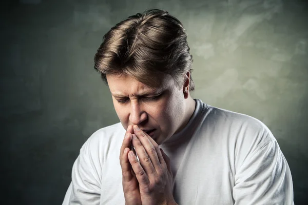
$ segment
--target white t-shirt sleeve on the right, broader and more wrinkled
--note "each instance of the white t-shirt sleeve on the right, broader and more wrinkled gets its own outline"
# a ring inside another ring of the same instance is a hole
[[[291,171],[275,138],[267,138],[243,161],[233,197],[235,205],[294,204]]]

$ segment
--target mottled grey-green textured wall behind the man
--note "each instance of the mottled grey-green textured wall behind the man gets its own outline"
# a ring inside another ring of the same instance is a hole
[[[277,138],[308,200],[308,7],[304,1],[6,1],[0,22],[5,204],[61,204],[84,141],[118,122],[93,69],[103,34],[128,15],[178,17],[195,98],[254,116]],[[3,197],[2,197],[3,198]]]

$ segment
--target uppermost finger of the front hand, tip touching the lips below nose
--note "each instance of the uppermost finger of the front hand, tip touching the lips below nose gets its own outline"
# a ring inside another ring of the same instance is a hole
[[[140,130],[138,128],[138,126],[134,126],[133,128],[134,128],[134,133],[136,134],[136,136],[140,140],[140,142],[141,142],[142,146],[144,147],[147,155],[150,157],[153,167],[156,170],[161,169],[161,163],[160,163],[159,156],[158,156],[158,153],[157,153],[158,151],[160,152],[160,150],[159,150],[159,146],[157,145],[157,143],[155,143],[156,146],[153,145],[152,142],[149,139],[151,137],[146,132],[143,132],[142,130]]]

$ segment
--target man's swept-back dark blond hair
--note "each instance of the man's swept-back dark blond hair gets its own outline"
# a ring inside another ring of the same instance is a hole
[[[94,57],[94,69],[106,75],[129,75],[149,87],[159,85],[164,74],[178,86],[190,72],[189,91],[195,89],[191,78],[192,55],[182,23],[167,11],[150,9],[129,16],[112,27]]]

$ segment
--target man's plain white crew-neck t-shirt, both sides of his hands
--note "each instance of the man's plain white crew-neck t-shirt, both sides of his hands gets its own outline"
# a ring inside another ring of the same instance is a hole
[[[160,147],[171,160],[176,202],[294,204],[290,168],[271,131],[258,119],[196,100],[186,127]],[[67,204],[125,204],[122,124],[89,137],[72,168]]]

